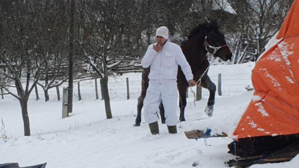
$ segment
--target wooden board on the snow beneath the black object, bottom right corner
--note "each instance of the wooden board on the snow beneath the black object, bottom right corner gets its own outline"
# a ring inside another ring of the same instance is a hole
[[[239,157],[226,162],[229,166],[247,167],[252,164],[277,163],[290,161],[299,153],[299,143],[293,142],[287,147],[284,147],[275,152],[264,152],[261,155]]]

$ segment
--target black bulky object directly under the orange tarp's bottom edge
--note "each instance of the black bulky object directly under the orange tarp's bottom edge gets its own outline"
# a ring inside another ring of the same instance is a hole
[[[299,143],[299,134],[241,138],[228,145],[228,153],[241,157],[255,156],[274,152],[295,142]]]

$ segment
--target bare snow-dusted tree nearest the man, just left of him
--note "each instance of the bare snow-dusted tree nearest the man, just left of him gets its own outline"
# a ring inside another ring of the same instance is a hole
[[[131,3],[132,4],[132,3]],[[125,58],[129,48],[124,41],[129,24],[130,2],[126,1],[81,1],[79,14],[82,23],[81,34],[75,37],[80,48],[81,60],[89,63],[92,70],[101,78],[101,92],[104,96],[106,117],[111,118],[108,93],[109,71],[118,66]]]

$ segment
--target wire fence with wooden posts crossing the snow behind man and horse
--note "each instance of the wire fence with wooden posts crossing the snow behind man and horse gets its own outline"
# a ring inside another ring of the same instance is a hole
[[[253,90],[251,82],[251,73],[242,74],[219,74],[210,75],[211,81],[217,86],[218,95],[221,96],[238,96],[244,94],[250,90]],[[84,80],[80,82],[80,91],[78,90],[79,82],[74,82],[73,85],[73,98],[79,100],[81,96],[82,99],[96,99],[96,88],[98,90],[98,99],[101,98],[100,80],[97,79],[97,87],[95,86],[95,79]],[[67,83],[64,83],[59,87],[59,96],[62,97],[62,89],[67,87]],[[43,97],[44,91],[40,86],[38,88],[39,97]],[[193,87],[192,90],[196,90]],[[220,91],[220,92],[219,92]],[[122,78],[114,77],[110,78],[108,81],[108,92],[110,99],[136,99],[141,93],[141,76],[140,79]],[[189,96],[193,93],[189,90]],[[208,97],[209,91],[207,89],[202,89],[202,97]],[[79,96],[80,93],[80,96]],[[219,94],[220,93],[220,94]],[[57,89],[52,88],[48,90],[50,100],[58,100]],[[7,95],[0,93],[0,99],[4,99]],[[30,97],[36,97],[34,91]]]

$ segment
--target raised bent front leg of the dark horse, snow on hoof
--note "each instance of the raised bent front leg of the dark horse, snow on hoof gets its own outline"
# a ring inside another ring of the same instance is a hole
[[[215,104],[215,92],[216,92],[216,85],[211,81],[208,75],[204,75],[201,82],[201,87],[206,88],[210,92],[208,105],[205,109],[205,112],[208,116],[212,116],[213,114],[213,107]]]

